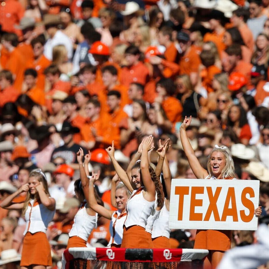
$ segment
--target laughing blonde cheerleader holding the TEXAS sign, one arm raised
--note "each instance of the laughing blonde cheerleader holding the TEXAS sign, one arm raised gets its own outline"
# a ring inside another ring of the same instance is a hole
[[[215,145],[207,162],[208,171],[200,165],[187,138],[186,128],[190,126],[191,121],[192,116],[190,119],[185,117],[180,126],[180,139],[194,175],[200,179],[235,179],[232,155],[225,146]],[[262,213],[261,207],[253,213],[259,217]],[[224,252],[231,248],[231,235],[230,230],[197,230],[194,248],[209,250],[209,255],[204,261],[205,268],[217,267]]]

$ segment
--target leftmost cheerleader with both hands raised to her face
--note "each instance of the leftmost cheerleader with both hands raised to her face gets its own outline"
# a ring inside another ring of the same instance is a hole
[[[27,192],[25,202],[12,203],[12,200],[22,192]],[[21,268],[45,269],[52,266],[46,230],[55,213],[55,200],[50,197],[44,173],[40,169],[32,170],[29,182],[3,200],[1,207],[22,210],[22,215],[26,219]]]

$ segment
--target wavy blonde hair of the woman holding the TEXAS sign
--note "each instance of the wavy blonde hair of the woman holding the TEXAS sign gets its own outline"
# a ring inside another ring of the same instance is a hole
[[[214,147],[209,155],[208,161],[207,161],[207,171],[209,173],[208,178],[213,177],[213,171],[210,165],[210,161],[211,161],[211,156],[213,152],[221,152],[224,155],[224,159],[225,159],[225,166],[223,168],[223,170],[221,171],[221,179],[225,179],[227,177],[235,177],[235,173],[234,173],[234,161],[232,159],[232,154],[231,151],[228,149],[228,147],[226,146],[221,146],[221,147]]]

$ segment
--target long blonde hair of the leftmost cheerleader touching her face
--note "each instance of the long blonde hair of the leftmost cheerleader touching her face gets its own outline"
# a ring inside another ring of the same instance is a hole
[[[29,174],[29,179],[30,179],[30,177],[35,177],[39,182],[42,182],[43,187],[44,187],[44,190],[45,190],[45,193],[48,196],[50,196],[49,189],[48,189],[48,182],[47,182],[46,176],[41,171],[41,169],[34,169],[34,170],[32,170],[30,172],[30,174]],[[26,210],[28,208],[29,201],[31,199],[34,199],[34,201],[37,201],[39,199],[38,192],[36,192],[35,195],[32,195],[30,193],[30,190],[28,191],[28,193],[26,195],[26,200],[25,200],[24,205],[23,205],[23,208],[22,208],[22,216],[25,215],[25,212],[26,212]]]

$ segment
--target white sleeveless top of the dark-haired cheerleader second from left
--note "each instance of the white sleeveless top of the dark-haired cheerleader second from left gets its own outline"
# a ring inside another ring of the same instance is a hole
[[[88,215],[86,211],[87,203],[84,202],[74,218],[72,229],[69,232],[69,237],[79,236],[87,241],[90,233],[97,227],[97,213],[95,216]]]

